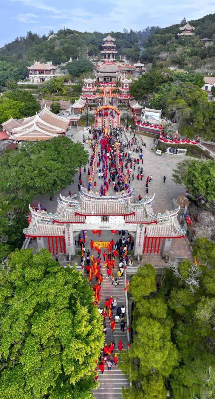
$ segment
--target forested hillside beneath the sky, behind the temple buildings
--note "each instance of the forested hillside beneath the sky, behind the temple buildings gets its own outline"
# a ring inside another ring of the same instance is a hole
[[[124,29],[123,32],[78,32],[76,30],[59,30],[56,37],[40,37],[28,32],[26,37],[16,38],[0,49],[0,85],[7,79],[24,79],[28,75],[26,65],[36,59],[40,62],[51,61],[54,65],[65,63],[72,57],[101,59],[102,39],[108,33],[115,38],[117,59],[126,57],[129,61],[151,63],[155,56],[166,65],[181,65],[188,71],[201,71],[211,74],[215,71],[215,14],[209,14],[198,20],[189,21],[195,27],[195,36],[178,38],[180,24],[167,28],[151,26],[139,31]],[[50,34],[53,34],[50,31]],[[204,47],[202,38],[212,40],[211,45]]]

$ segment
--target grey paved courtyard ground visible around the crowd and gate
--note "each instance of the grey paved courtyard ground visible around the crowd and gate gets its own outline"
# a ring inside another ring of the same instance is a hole
[[[84,130],[76,131],[76,128],[74,128],[71,132],[71,140],[74,138],[74,142],[80,141],[83,143],[83,134],[86,136],[88,133],[84,133]],[[127,138],[130,139],[133,134],[128,134],[126,133]],[[138,196],[139,194],[144,197],[145,194],[145,181],[147,176],[152,175],[152,180],[148,184],[148,196],[153,195],[155,193],[155,201],[153,204],[153,209],[155,213],[163,213],[165,211],[172,211],[175,209],[173,205],[173,198],[177,198],[179,194],[184,194],[185,193],[185,187],[179,186],[173,182],[172,178],[172,170],[174,168],[177,168],[177,163],[180,162],[185,158],[185,156],[177,156],[177,155],[169,155],[169,154],[162,154],[161,156],[156,155],[154,151],[151,151],[151,148],[153,148],[153,138],[148,137],[148,136],[143,136],[137,134],[137,144],[141,145],[141,142],[145,142],[146,148],[143,147],[143,165],[140,162],[140,167],[143,166],[143,180],[141,181],[140,178],[137,180],[136,176],[138,173],[138,166],[136,165],[135,170],[131,172],[131,174],[134,174],[134,180],[132,181],[131,178],[131,184],[130,186],[134,186],[134,201],[138,202]],[[124,134],[122,134],[122,140],[125,139]],[[89,158],[92,154],[92,148],[89,147],[89,144],[83,144],[84,148],[89,152]],[[136,152],[131,152],[131,156],[134,155],[137,157],[139,154]],[[90,164],[86,164],[86,174],[84,174],[84,171],[82,168],[82,184],[87,188],[88,187],[88,167]],[[133,168],[132,168],[133,169]],[[163,176],[166,176],[166,181],[165,184],[163,183]],[[97,183],[96,189],[94,188],[94,181]],[[98,174],[96,175],[96,178],[94,179],[93,184],[92,184],[92,190],[94,192],[99,192],[100,185],[102,184],[102,179],[98,178]],[[77,172],[75,178],[74,178],[74,183],[68,185],[68,187],[64,190],[60,190],[52,201],[50,201],[50,197],[48,196],[38,196],[34,200],[41,202],[42,206],[45,207],[48,211],[48,213],[54,213],[56,211],[57,205],[58,205],[58,198],[61,196],[67,197],[69,194],[69,191],[71,192],[71,196],[76,192],[78,198],[80,199],[79,196],[79,191],[78,191],[78,183],[79,183],[79,173]],[[110,195],[114,195],[114,190],[112,188],[112,185],[110,184],[108,193]],[[125,230],[126,230],[125,226]],[[183,227],[183,226],[181,226]],[[127,232],[128,230],[126,230]],[[90,249],[90,240],[96,240],[96,241],[109,241],[110,238],[110,232],[109,231],[102,231],[102,234],[100,236],[100,239],[98,239],[98,235],[94,235],[91,231],[87,231],[88,239],[86,240],[86,251],[87,249]],[[117,237],[117,235],[113,235],[113,240],[117,239],[114,237]],[[36,239],[32,240],[30,243],[30,247],[34,247],[34,250],[37,249],[37,241]],[[78,250],[78,246],[76,245],[76,251]],[[189,257],[191,259],[191,251],[189,248],[189,244],[187,239],[173,239],[172,244],[171,244],[171,250],[170,250],[170,257],[172,259],[175,259],[176,257]],[[66,266],[68,264],[68,261],[66,260],[66,254],[59,254],[59,261],[62,266]],[[70,262],[71,265],[74,263],[78,262],[80,264],[80,257],[76,256],[76,259],[72,260]],[[161,255],[158,253],[148,253],[148,254],[143,254],[142,255],[142,260],[140,260],[140,265],[143,265],[144,263],[152,263],[155,267],[165,267],[165,261],[161,259]],[[137,265],[137,262],[134,261],[134,264]]]

